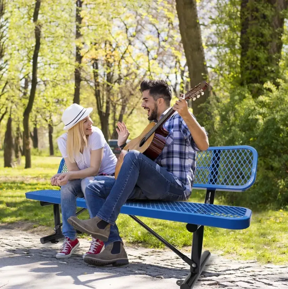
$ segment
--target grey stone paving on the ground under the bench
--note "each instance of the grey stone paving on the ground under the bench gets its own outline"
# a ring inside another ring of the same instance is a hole
[[[42,245],[39,234],[0,226],[0,288],[179,288],[188,266],[173,252],[127,247],[130,264],[95,267],[83,262],[89,241],[80,240],[73,257],[58,260],[58,244]],[[189,253],[187,252],[187,255]],[[198,289],[288,289],[288,265],[261,265],[212,255]]]

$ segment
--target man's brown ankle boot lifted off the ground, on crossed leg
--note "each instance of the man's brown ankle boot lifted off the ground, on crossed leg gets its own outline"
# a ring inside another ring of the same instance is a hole
[[[94,217],[88,220],[80,220],[75,216],[71,216],[70,218],[68,218],[68,223],[72,225],[75,229],[92,235],[92,237],[96,239],[106,242],[110,234],[110,224],[106,225],[106,227],[103,228],[102,224],[99,224],[100,222],[103,223],[103,220],[98,217]]]

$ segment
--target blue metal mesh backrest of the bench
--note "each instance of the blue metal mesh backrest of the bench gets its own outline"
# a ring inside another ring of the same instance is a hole
[[[210,147],[197,152],[194,189],[242,192],[256,179],[257,151],[250,146]],[[58,173],[67,172],[64,159]]]

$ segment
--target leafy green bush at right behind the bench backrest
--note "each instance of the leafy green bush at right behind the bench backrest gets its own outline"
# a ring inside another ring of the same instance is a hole
[[[210,135],[212,145],[251,145],[258,152],[256,182],[248,192],[218,194],[232,205],[253,209],[288,207],[288,85],[264,85],[252,98],[245,88],[231,91],[227,103],[216,103],[218,123]]]

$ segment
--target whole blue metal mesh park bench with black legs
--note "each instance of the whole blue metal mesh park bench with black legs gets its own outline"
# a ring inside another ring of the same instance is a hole
[[[197,168],[194,189],[205,189],[204,203],[182,201],[127,201],[121,208],[122,214],[128,214],[137,223],[147,229],[158,240],[163,242],[188,265],[190,273],[186,279],[178,280],[180,289],[193,288],[210,257],[209,251],[202,253],[204,226],[245,229],[250,225],[251,210],[242,207],[214,205],[215,191],[242,192],[250,188],[256,179],[257,151],[249,146],[210,147],[207,151],[197,153]],[[64,160],[61,160],[58,173],[67,171]],[[60,223],[60,191],[40,190],[27,192],[27,199],[38,200],[42,206],[53,205],[55,234],[40,239],[41,243],[58,242],[63,238]],[[87,208],[83,198],[77,199],[77,206]],[[187,223],[186,228],[193,233],[191,259],[182,254],[169,242],[164,240],[141,220],[143,216],[169,221]]]

